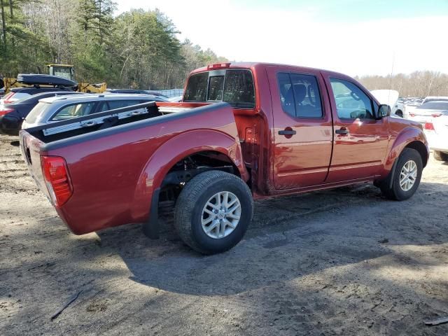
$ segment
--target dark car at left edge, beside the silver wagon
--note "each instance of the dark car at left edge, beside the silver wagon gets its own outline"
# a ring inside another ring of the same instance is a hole
[[[22,87],[32,89],[33,87]],[[47,89],[48,87],[45,87]],[[52,88],[52,87],[50,87]],[[41,90],[41,89],[39,89]],[[18,135],[22,128],[23,120],[28,116],[28,113],[36,106],[39,99],[65,96],[68,94],[81,94],[74,91],[57,91],[41,92],[37,94],[27,95],[25,98],[19,99],[10,104],[0,105],[0,132],[8,135]]]

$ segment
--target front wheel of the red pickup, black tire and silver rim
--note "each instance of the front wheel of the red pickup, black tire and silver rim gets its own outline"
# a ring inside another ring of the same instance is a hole
[[[390,200],[407,200],[419,188],[422,170],[423,163],[419,152],[405,148],[394,171],[391,171],[386,180],[381,181],[381,192]]]

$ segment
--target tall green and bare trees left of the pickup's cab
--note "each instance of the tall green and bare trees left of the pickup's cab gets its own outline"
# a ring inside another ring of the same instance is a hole
[[[47,73],[73,64],[79,81],[109,87],[183,87],[200,66],[225,62],[212,50],[179,41],[159,10],[118,16],[111,0],[0,0],[0,74]]]

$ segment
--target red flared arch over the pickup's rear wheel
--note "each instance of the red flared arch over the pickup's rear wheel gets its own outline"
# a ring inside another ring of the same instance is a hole
[[[248,180],[238,139],[217,130],[184,132],[162,144],[146,163],[134,194],[131,210],[134,221],[145,221],[148,218],[153,192],[160,188],[169,169],[188,155],[202,151],[216,151],[226,155],[239,170],[241,179]]]

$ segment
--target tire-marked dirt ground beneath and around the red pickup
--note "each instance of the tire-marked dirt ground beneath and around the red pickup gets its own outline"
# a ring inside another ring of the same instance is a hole
[[[202,256],[169,220],[155,241],[71,234],[17,140],[0,136],[0,335],[448,335],[423,323],[448,316],[446,163],[406,202],[367,184],[256,202],[245,239]]]

